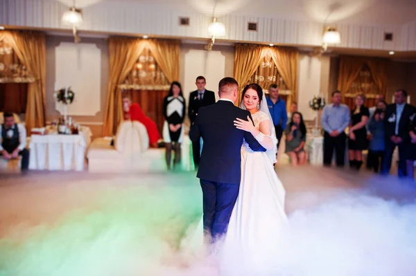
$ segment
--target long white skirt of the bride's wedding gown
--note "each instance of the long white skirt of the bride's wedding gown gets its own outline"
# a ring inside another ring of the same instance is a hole
[[[239,197],[225,239],[216,250],[220,275],[277,275],[288,242],[286,192],[266,153],[247,149],[241,157]],[[193,248],[202,244],[202,229],[201,219],[191,238]]]

